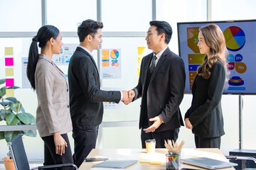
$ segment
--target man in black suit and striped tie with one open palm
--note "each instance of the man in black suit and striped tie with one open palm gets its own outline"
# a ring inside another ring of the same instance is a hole
[[[142,148],[145,140],[155,139],[156,147],[164,140],[178,138],[183,120],[179,105],[185,88],[185,69],[181,57],[169,50],[172,30],[165,21],[151,21],[146,44],[154,50],[142,59],[139,84],[128,91],[130,98],[142,97],[139,128],[142,128]]]

